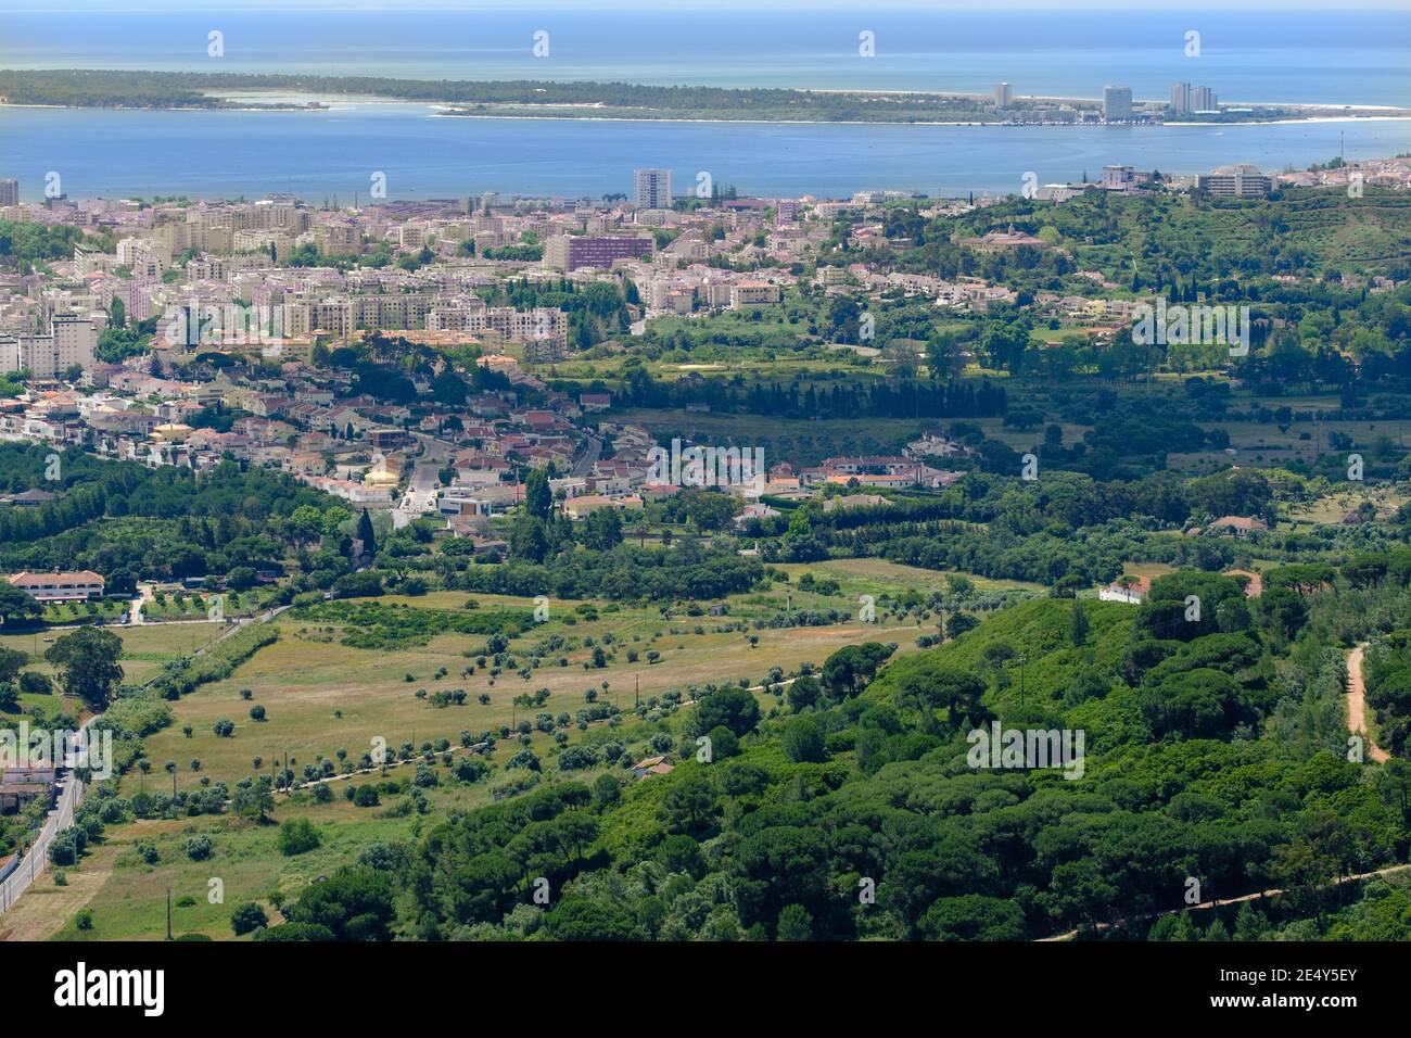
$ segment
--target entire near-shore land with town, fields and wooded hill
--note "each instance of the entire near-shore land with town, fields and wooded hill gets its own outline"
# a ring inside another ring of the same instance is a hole
[[[0,181],[0,938],[1332,939],[1411,897],[1411,160],[673,174]]]

